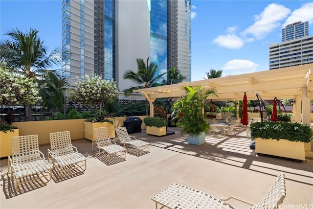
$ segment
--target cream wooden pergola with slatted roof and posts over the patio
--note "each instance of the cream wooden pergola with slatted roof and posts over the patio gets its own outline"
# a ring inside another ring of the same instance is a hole
[[[150,116],[154,115],[153,102],[156,98],[180,97],[185,94],[185,86],[202,86],[204,89],[215,88],[216,96],[207,99],[213,101],[243,100],[246,92],[248,100],[257,100],[258,93],[263,100],[292,98],[295,121],[310,124],[310,99],[313,97],[313,64],[299,65],[276,70],[203,79],[166,86],[135,90],[150,103]],[[256,93],[255,93],[256,92]],[[238,111],[237,111],[238,112]]]

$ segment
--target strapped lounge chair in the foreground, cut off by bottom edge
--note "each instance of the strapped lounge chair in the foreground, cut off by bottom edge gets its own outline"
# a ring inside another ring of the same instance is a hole
[[[161,205],[160,209],[164,207],[169,209],[234,209],[225,202],[231,198],[251,205],[249,209],[277,209],[285,197],[285,175],[281,172],[263,200],[256,205],[232,196],[227,199],[218,199],[203,191],[177,183],[173,183],[159,192],[152,200],[156,202],[156,209],[158,204]]]

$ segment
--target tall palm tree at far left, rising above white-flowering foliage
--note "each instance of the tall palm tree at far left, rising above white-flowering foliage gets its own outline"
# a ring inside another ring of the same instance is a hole
[[[64,103],[65,79],[56,70],[47,70],[62,63],[61,48],[53,49],[47,54],[44,42],[38,36],[38,30],[30,28],[23,33],[12,29],[6,33],[11,39],[0,42],[0,59],[5,67],[17,71],[26,77],[33,77],[40,86],[40,96],[45,107],[59,107]],[[31,106],[25,108],[27,120],[31,120]]]

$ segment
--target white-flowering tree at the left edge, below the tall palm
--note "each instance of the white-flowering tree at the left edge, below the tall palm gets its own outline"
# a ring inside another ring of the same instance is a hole
[[[2,105],[31,105],[41,101],[38,83],[0,68],[0,103]]]

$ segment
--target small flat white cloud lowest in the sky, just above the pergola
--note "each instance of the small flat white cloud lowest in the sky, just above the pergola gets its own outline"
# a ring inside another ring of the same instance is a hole
[[[221,68],[223,70],[223,74],[244,74],[249,72],[255,72],[256,68],[259,65],[250,61],[250,60],[230,60],[225,63],[224,67]]]

